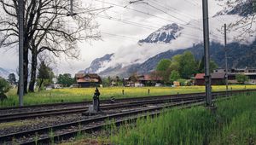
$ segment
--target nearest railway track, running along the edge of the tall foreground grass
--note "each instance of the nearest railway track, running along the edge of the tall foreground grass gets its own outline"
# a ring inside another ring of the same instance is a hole
[[[12,144],[14,142],[18,144],[35,144],[36,142],[39,144],[49,144],[49,142],[57,142],[65,140],[72,136],[76,136],[78,132],[90,133],[91,131],[100,130],[103,126],[113,124],[106,123],[106,120],[115,119],[116,121],[114,122],[114,124],[118,125],[123,123],[124,121],[131,121],[132,119],[137,119],[139,116],[136,115],[138,114],[156,115],[159,114],[160,110],[162,110],[163,108],[177,107],[195,102],[201,102],[200,104],[203,104],[202,101],[203,99],[196,99],[193,101],[185,102],[172,102],[166,105],[162,105],[160,107],[142,108],[135,111],[128,111],[125,113],[114,113],[110,115],[96,117],[93,119],[84,119],[72,123],[40,128],[37,130],[16,132],[13,134],[0,136],[0,144]],[[50,132],[52,132],[52,135],[50,135]]]

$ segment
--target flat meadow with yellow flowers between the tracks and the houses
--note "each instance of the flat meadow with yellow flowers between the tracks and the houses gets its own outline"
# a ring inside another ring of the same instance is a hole
[[[233,90],[256,89],[256,85],[232,85]],[[148,89],[150,94],[148,95]],[[90,101],[92,99],[95,88],[73,88],[73,89],[56,89],[42,90],[40,92],[28,93],[24,96],[24,105],[54,103],[54,102],[79,102]],[[160,96],[170,94],[185,94],[205,91],[204,86],[184,86],[184,87],[111,87],[99,88],[101,99],[109,99],[111,96],[115,98],[137,97],[137,96]],[[125,95],[122,94],[125,90]],[[225,90],[225,86],[212,86],[213,91]],[[18,105],[18,96],[16,90],[10,90],[7,94],[8,99],[0,102],[0,107],[11,107]]]

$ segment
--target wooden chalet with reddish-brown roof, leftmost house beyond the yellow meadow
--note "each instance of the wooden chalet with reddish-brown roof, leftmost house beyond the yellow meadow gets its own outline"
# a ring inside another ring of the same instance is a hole
[[[102,78],[96,73],[76,73],[75,78],[79,88],[96,87],[102,84]]]

